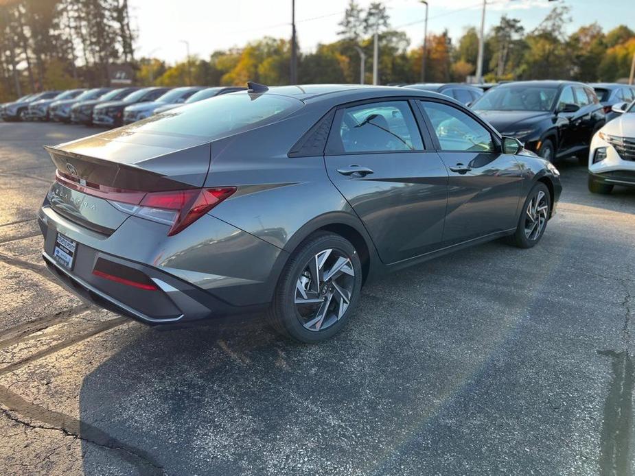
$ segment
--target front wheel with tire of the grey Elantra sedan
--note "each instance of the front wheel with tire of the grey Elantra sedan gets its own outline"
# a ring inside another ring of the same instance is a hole
[[[549,213],[551,211],[551,195],[549,189],[542,182],[538,182],[527,195],[522,205],[522,212],[518,219],[516,231],[508,239],[509,243],[518,248],[532,248],[542,239]]]

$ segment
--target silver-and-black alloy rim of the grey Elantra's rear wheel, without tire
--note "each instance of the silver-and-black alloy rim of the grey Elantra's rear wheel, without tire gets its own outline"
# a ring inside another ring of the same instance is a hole
[[[322,250],[303,267],[296,282],[295,308],[305,329],[328,329],[344,316],[351,302],[355,270],[347,255]]]

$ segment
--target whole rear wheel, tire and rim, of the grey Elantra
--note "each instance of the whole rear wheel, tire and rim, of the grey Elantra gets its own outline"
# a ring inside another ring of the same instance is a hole
[[[315,233],[292,253],[268,312],[272,326],[306,343],[327,340],[357,306],[362,265],[354,246],[334,233]]]

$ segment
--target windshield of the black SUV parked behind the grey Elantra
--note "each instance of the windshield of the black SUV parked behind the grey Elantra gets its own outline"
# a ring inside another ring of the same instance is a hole
[[[498,86],[472,104],[474,110],[535,110],[553,108],[558,89],[545,86]]]

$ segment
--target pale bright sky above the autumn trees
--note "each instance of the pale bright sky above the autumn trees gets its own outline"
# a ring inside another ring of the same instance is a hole
[[[508,14],[522,20],[526,30],[536,27],[554,5],[568,5],[569,31],[597,21],[606,31],[632,23],[633,0],[487,0],[485,29]],[[183,60],[189,43],[193,55],[242,47],[263,36],[289,38],[291,0],[128,0],[132,25],[139,32],[137,57],[154,56],[170,63]],[[301,51],[336,40],[338,22],[347,0],[296,0],[296,29]],[[365,7],[371,0],[358,0]],[[421,45],[425,7],[419,0],[384,0],[391,26],[408,35],[411,47]],[[456,43],[465,28],[479,27],[482,0],[428,0],[428,34],[448,29]],[[629,5],[630,4],[630,5]],[[632,27],[632,25],[630,25]]]

